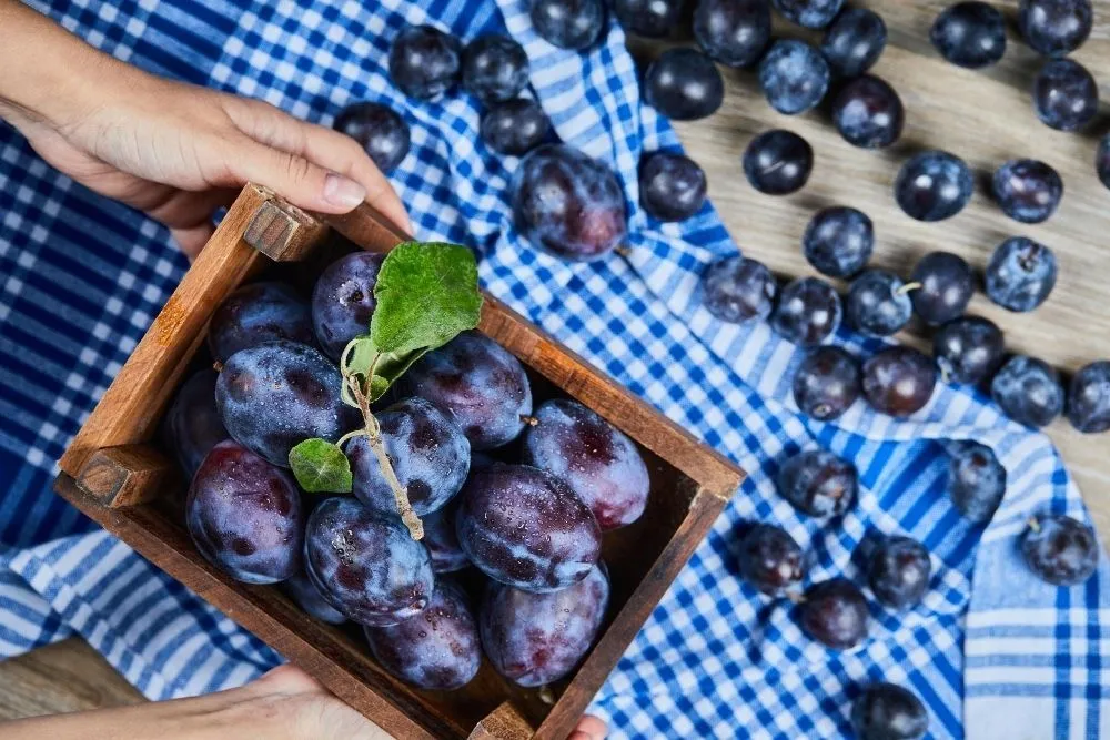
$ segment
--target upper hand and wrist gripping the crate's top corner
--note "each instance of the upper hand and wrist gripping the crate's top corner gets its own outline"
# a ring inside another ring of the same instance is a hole
[[[321,213],[369,201],[410,229],[389,181],[344,134],[143,72],[19,2],[0,0],[0,116],[58,170],[164,223],[190,256],[248,180]],[[27,53],[32,44],[51,53]]]

